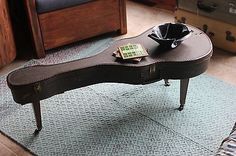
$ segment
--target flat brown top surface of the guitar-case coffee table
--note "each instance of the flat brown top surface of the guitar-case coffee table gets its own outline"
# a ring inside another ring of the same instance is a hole
[[[118,40],[102,53],[93,57],[51,66],[35,66],[19,69],[9,74],[8,80],[11,84],[23,85],[42,81],[65,71],[96,67],[104,64],[119,67],[145,67],[152,64],[158,64],[156,67],[158,70],[163,68],[166,70],[177,66],[185,67],[186,65],[199,64],[204,60],[209,59],[211,56],[212,44],[209,38],[201,30],[194,27],[189,27],[189,29],[193,30],[192,36],[185,40],[180,46],[172,50],[165,51],[160,49],[158,43],[148,37],[148,34],[152,31],[151,28],[139,36]],[[115,57],[112,56],[112,53],[117,50],[117,47],[127,43],[141,43],[145,49],[148,50],[150,56],[146,57],[138,64],[116,61]],[[189,67],[191,68],[191,66]],[[23,73],[27,79],[20,76]],[[34,76],[32,76],[32,74]],[[178,75],[178,77],[181,76],[180,73],[178,73]]]

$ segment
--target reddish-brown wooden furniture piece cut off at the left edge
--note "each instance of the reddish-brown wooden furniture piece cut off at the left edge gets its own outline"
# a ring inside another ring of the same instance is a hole
[[[16,57],[8,0],[0,0],[0,68]]]

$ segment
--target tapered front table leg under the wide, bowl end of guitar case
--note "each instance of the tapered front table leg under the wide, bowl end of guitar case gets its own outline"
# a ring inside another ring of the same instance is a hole
[[[184,104],[185,104],[186,95],[188,91],[188,83],[189,83],[189,79],[180,80],[180,107],[178,108],[179,111],[182,111],[184,109]]]

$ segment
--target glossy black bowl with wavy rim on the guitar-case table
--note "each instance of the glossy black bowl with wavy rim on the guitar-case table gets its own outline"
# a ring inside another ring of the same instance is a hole
[[[161,47],[166,49],[176,48],[181,42],[191,35],[192,31],[184,24],[166,23],[163,25],[155,26],[152,34],[148,37],[152,38],[160,44]]]

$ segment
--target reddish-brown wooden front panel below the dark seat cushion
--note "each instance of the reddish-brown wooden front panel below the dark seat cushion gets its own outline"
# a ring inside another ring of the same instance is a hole
[[[51,49],[102,33],[119,30],[121,25],[119,1],[93,1],[40,14],[39,21],[44,47]]]

